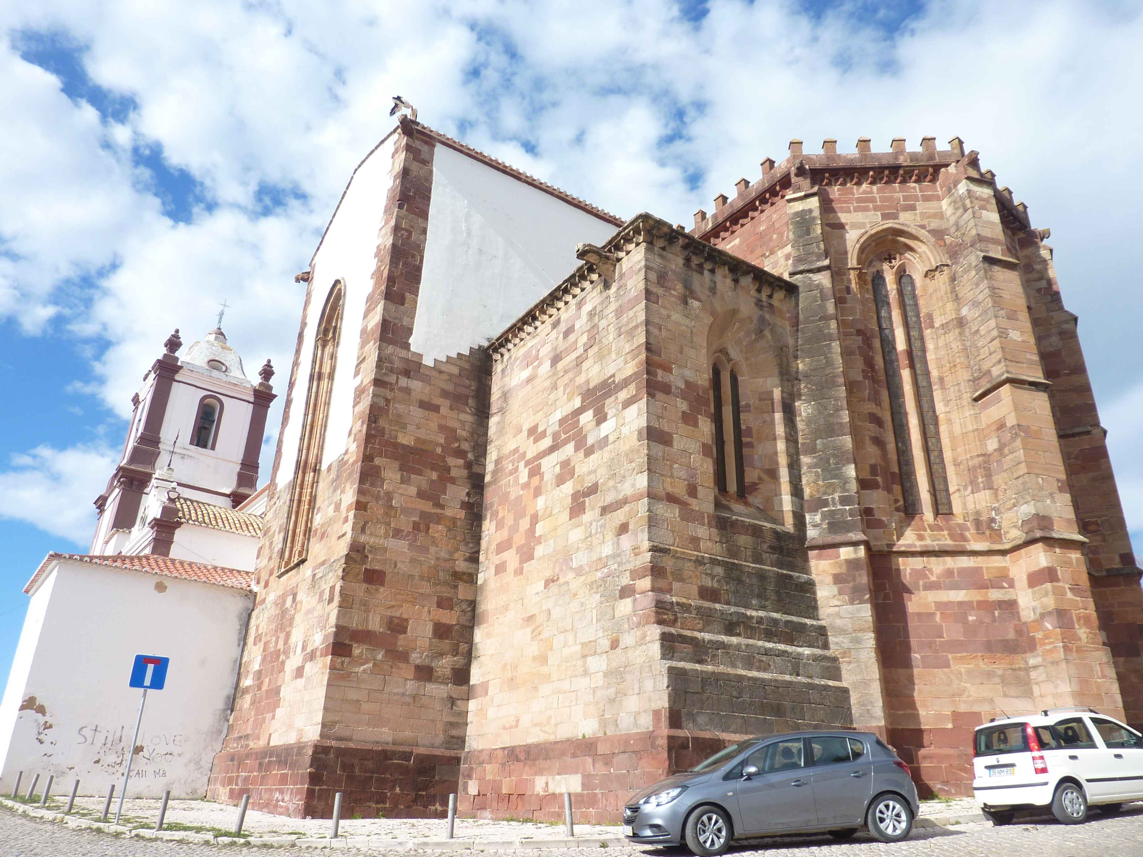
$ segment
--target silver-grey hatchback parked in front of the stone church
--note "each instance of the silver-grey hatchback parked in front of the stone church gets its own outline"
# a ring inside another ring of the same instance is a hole
[[[734,744],[632,795],[623,834],[638,844],[686,844],[703,857],[722,854],[735,839],[848,839],[861,827],[900,842],[917,809],[909,766],[876,735],[788,732]]]

